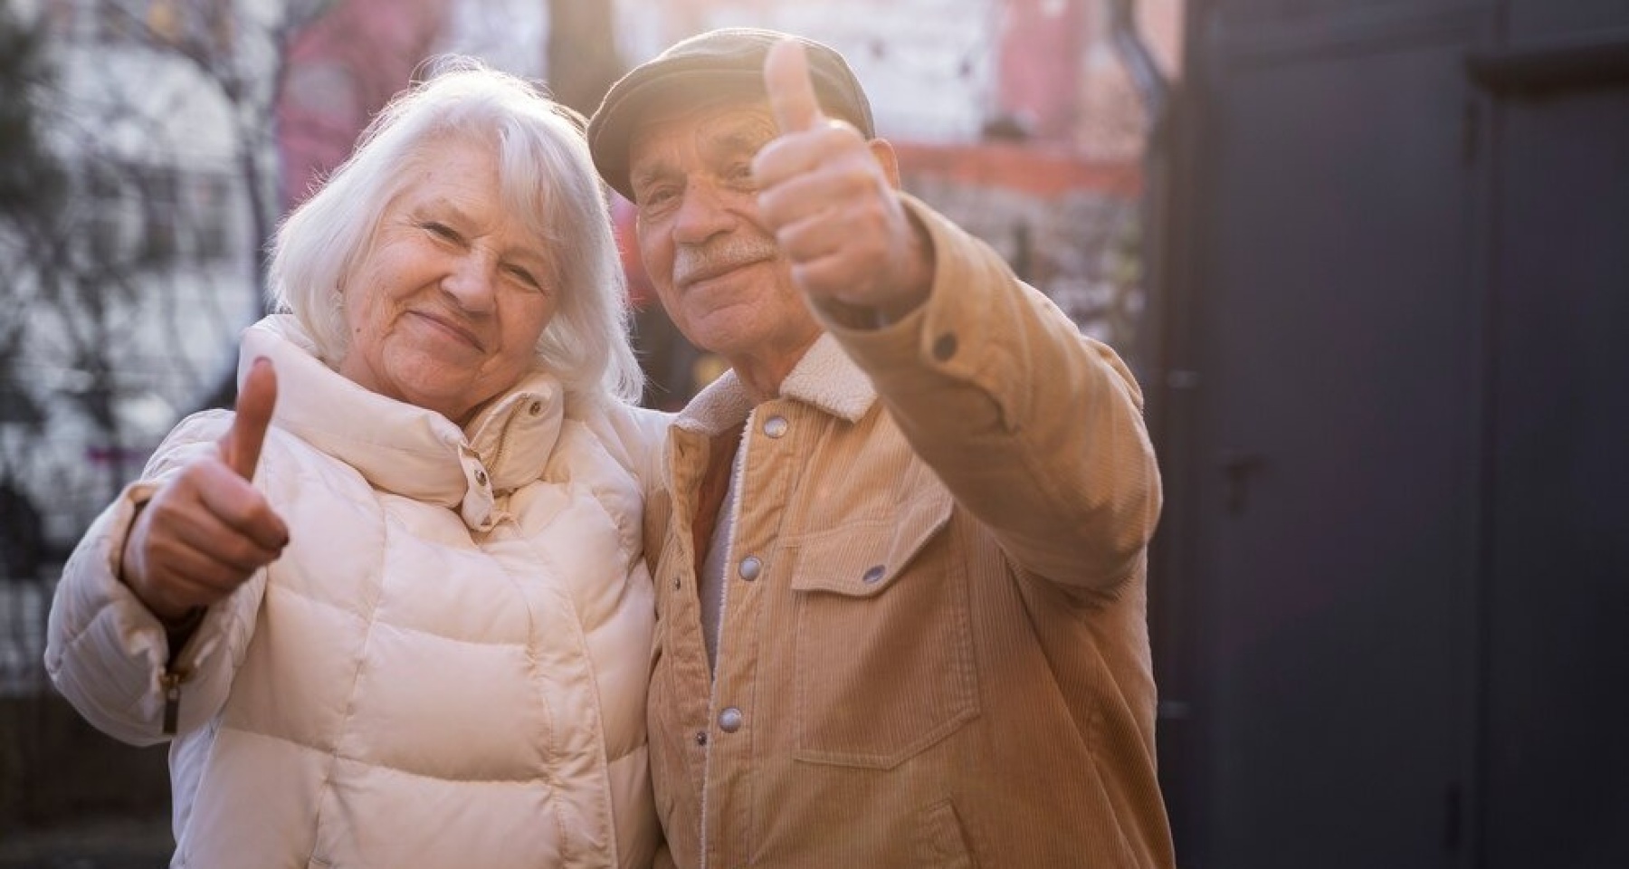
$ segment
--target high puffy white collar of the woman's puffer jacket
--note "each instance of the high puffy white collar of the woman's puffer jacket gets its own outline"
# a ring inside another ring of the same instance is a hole
[[[262,355],[277,370],[277,427],[350,465],[376,489],[458,509],[476,530],[502,518],[498,497],[542,476],[560,435],[564,390],[542,372],[523,377],[461,429],[340,377],[290,315],[243,333],[239,383]]]

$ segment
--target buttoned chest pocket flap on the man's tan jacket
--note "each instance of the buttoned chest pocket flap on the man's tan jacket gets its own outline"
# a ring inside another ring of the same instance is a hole
[[[938,489],[902,504],[894,522],[860,522],[803,536],[792,590],[872,597],[893,584],[948,522],[955,502]]]

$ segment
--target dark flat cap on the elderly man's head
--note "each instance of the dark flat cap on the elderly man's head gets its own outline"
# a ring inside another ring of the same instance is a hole
[[[588,121],[595,168],[622,196],[634,199],[627,181],[629,137],[653,106],[707,96],[764,96],[764,57],[782,39],[803,42],[821,108],[876,137],[872,104],[854,70],[829,46],[757,28],[723,28],[692,36],[634,67],[599,103]]]

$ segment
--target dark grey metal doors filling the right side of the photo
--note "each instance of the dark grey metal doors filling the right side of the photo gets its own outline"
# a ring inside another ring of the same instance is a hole
[[[1189,15],[1179,862],[1629,866],[1629,3]]]

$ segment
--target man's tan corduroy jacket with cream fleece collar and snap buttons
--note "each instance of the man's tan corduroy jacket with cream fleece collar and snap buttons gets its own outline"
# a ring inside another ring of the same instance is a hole
[[[673,429],[647,510],[671,859],[1173,866],[1142,396],[992,249],[911,205],[937,254],[922,308],[828,323],[780,398],[753,406],[727,373]],[[710,440],[743,421],[714,680],[691,525]]]

